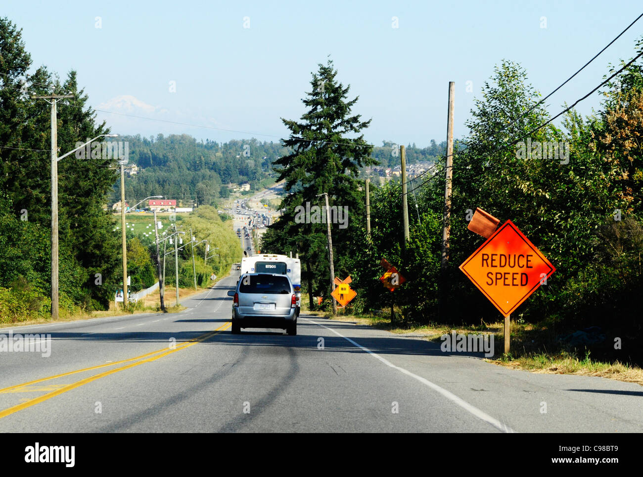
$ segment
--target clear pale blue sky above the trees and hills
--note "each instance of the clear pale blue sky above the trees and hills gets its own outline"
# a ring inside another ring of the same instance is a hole
[[[301,116],[311,72],[331,55],[340,81],[351,85],[350,98],[359,95],[353,111],[372,118],[368,141],[425,146],[446,139],[449,81],[456,83],[455,136],[462,137],[494,65],[519,62],[548,94],[642,6],[619,0],[11,1],[0,15],[23,29],[35,66],[60,76],[76,69],[93,107],[210,127],[99,113],[119,134],[278,141],[287,136],[280,117]],[[641,36],[643,19],[547,101],[550,114],[598,85],[610,62],[631,58]],[[598,106],[594,94],[578,110],[590,114]]]

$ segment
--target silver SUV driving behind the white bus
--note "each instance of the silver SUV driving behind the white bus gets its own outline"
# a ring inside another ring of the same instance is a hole
[[[241,328],[282,328],[297,334],[297,295],[288,275],[244,273],[232,300],[232,333]]]

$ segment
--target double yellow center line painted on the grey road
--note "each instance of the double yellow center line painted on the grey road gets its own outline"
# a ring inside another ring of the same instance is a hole
[[[6,417],[10,414],[13,414],[14,412],[21,411],[23,409],[29,408],[31,406],[34,406],[35,404],[42,403],[42,401],[47,401],[48,399],[51,399],[52,397],[55,397],[60,394],[64,394],[68,391],[71,391],[72,389],[78,388],[80,386],[86,385],[87,383],[91,383],[92,381],[96,381],[97,379],[100,379],[101,377],[109,376],[110,374],[117,373],[119,371],[123,371],[125,369],[130,369],[135,366],[141,365],[143,363],[151,363],[152,361],[156,361],[159,358],[163,358],[163,356],[167,356],[168,354],[172,354],[173,352],[177,352],[182,349],[186,349],[192,345],[195,345],[197,343],[201,343],[204,340],[207,340],[208,338],[212,338],[215,334],[219,334],[222,331],[225,331],[230,327],[231,323],[226,322],[222,324],[220,327],[215,329],[214,331],[210,331],[209,333],[202,334],[201,336],[198,336],[197,338],[194,338],[192,340],[189,340],[188,342],[185,342],[181,345],[178,345],[176,347],[168,349],[167,347],[159,349],[157,351],[152,351],[149,353],[141,354],[140,356],[135,356],[134,358],[129,358],[127,360],[122,360],[122,361],[115,361],[114,363],[106,363],[104,365],[98,365],[98,366],[93,366],[89,368],[83,368],[83,369],[78,369],[75,371],[69,371],[65,372],[62,374],[56,374],[55,376],[49,376],[49,377],[42,377],[41,379],[34,379],[33,381],[28,381],[27,383],[21,383],[19,385],[14,385],[14,386],[9,386],[8,388],[3,388],[0,389],[0,394],[4,393],[9,393],[9,392],[15,392],[16,390],[19,390],[20,388],[24,388],[25,386],[33,385],[36,383],[42,383],[43,381],[50,381],[51,379],[57,379],[59,377],[64,377],[64,376],[70,376],[71,374],[77,374],[79,372],[85,372],[85,371],[91,371],[95,369],[101,369],[105,367],[111,367],[114,365],[120,365],[123,363],[129,363],[127,365],[110,369],[98,374],[95,374],[94,376],[89,376],[84,379],[80,379],[80,381],[76,381],[75,383],[71,383],[66,386],[62,386],[61,388],[48,392],[47,394],[43,394],[39,397],[35,397],[33,399],[30,399],[29,401],[26,401],[21,404],[17,404],[15,406],[12,406],[10,408],[7,408],[3,411],[0,411],[0,419],[3,417]],[[131,362],[134,361],[134,362]]]

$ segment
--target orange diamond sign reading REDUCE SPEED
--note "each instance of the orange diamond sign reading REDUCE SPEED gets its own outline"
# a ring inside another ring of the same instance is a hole
[[[507,220],[460,270],[508,317],[556,268]]]

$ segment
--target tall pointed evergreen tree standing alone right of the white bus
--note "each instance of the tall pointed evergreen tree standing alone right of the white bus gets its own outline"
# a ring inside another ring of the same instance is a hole
[[[301,121],[282,118],[291,131],[283,141],[291,153],[277,159],[274,170],[279,174],[278,181],[285,180],[288,195],[280,206],[285,209],[284,216],[269,228],[262,245],[262,250],[271,252],[298,250],[303,254],[302,279],[311,302],[314,294],[328,297],[331,291],[326,225],[321,216],[298,215],[301,209],[297,207],[324,207],[325,199],[319,195],[327,193],[331,207],[348,211],[345,218],[335,216],[336,221],[345,219],[343,223],[332,225],[335,271],[343,279],[350,273],[346,260],[349,248],[364,241],[359,227],[364,218],[363,192],[356,177],[361,167],[377,163],[370,157],[372,146],[360,134],[370,119],[362,121],[359,114],[351,113],[358,97],[347,100],[350,85],[344,87],[336,76],[331,60],[320,64],[319,70],[312,73],[312,91],[302,100],[307,111]]]

